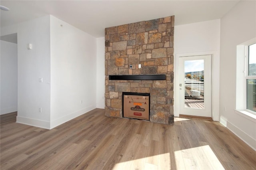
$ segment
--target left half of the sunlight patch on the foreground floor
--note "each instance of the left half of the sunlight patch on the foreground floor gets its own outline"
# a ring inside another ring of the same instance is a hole
[[[140,159],[129,160],[115,164],[112,170],[158,170],[171,169],[170,153],[148,156]]]

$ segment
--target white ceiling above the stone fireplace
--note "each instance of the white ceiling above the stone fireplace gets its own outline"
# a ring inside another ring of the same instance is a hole
[[[104,36],[104,28],[175,15],[175,25],[222,18],[233,0],[1,0],[0,26],[53,15],[88,34]]]

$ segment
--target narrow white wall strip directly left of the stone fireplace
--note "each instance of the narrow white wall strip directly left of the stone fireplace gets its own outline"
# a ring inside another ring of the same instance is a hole
[[[105,109],[105,37],[97,38],[96,107]]]

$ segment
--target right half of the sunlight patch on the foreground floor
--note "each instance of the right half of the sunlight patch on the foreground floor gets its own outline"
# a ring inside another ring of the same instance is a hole
[[[177,169],[224,170],[209,145],[174,152]]]

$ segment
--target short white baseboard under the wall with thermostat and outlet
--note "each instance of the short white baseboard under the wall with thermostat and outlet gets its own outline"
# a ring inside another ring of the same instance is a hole
[[[21,123],[21,124],[29,125],[29,126],[33,126],[33,127],[50,129],[50,122],[42,121],[42,120],[38,120],[38,119],[31,119],[31,118],[27,118],[27,117],[17,116],[16,123]]]

